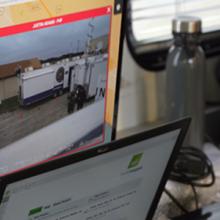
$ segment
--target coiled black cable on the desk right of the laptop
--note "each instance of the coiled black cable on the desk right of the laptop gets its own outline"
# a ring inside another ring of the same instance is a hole
[[[210,178],[210,182],[201,183],[201,180]],[[207,155],[195,147],[182,147],[175,162],[170,179],[182,184],[190,185],[194,194],[196,209],[199,208],[196,187],[210,187],[215,183],[215,173],[212,162]],[[167,190],[165,193],[185,213],[188,211]]]

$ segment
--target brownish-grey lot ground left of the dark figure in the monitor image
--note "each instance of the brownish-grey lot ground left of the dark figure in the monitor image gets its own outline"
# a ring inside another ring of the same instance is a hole
[[[0,115],[0,148],[67,115],[67,94]]]

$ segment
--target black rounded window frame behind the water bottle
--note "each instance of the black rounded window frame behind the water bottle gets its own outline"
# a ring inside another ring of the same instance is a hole
[[[137,42],[132,34],[130,10],[131,8],[128,4],[126,40],[132,57],[139,66],[146,70],[164,70],[172,39],[169,41],[158,41],[149,44]],[[220,55],[220,30],[202,34],[201,45],[207,58]]]

